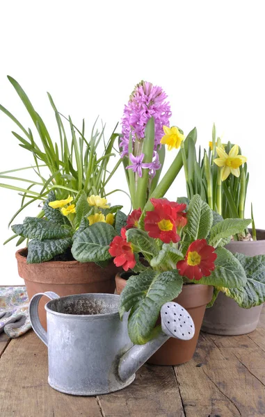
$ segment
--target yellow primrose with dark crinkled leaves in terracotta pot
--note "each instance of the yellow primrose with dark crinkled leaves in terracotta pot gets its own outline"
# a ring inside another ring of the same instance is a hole
[[[51,191],[43,206],[44,218],[27,217],[23,224],[12,226],[17,236],[29,240],[28,247],[16,253],[19,275],[25,281],[29,299],[45,291],[61,296],[113,293],[117,268],[108,245],[127,218],[120,211],[121,206],[111,207],[99,196],[87,197],[83,190],[75,199],[54,199]],[[77,248],[71,252],[74,240],[82,233],[86,234],[90,251],[93,248],[86,260]],[[42,303],[42,323],[45,317]]]

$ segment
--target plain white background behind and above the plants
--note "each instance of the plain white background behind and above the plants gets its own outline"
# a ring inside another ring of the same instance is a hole
[[[87,129],[97,115],[111,133],[141,79],[161,85],[172,108],[171,124],[198,128],[202,146],[216,122],[223,142],[241,145],[248,157],[250,202],[256,225],[264,219],[264,13],[263,1],[2,1],[0,5],[0,103],[26,127],[32,122],[6,75],[13,76],[58,140],[46,92],[64,115]],[[31,165],[0,114],[0,171]],[[167,163],[175,151],[167,154]],[[0,182],[1,181],[0,179]],[[19,185],[22,186],[23,183]],[[127,187],[122,169],[112,187]],[[20,197],[1,188],[0,240]],[[168,192],[185,194],[184,177]],[[116,194],[112,204],[129,202]],[[35,215],[38,207],[22,213]],[[22,284],[14,240],[0,246],[0,284]]]

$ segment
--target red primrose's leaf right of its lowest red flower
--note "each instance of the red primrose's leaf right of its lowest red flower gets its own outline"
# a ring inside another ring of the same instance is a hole
[[[238,259],[224,247],[216,249],[216,268],[209,277],[202,277],[194,283],[213,285],[216,287],[239,288],[246,284],[246,274]]]

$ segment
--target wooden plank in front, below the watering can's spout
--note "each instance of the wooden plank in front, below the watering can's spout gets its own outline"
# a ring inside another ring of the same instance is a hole
[[[126,389],[98,398],[106,417],[185,416],[171,366],[145,365]]]

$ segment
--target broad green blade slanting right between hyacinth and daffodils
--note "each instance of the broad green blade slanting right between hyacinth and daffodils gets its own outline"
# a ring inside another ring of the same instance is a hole
[[[188,152],[188,137],[193,137],[195,140],[196,137],[196,129],[194,128],[193,131],[191,131],[186,139],[184,140],[184,149],[187,154]],[[166,192],[168,191],[168,188],[170,188],[172,182],[177,177],[177,174],[182,169],[183,161],[182,161],[182,152],[179,150],[177,156],[175,157],[174,161],[168,168],[168,171],[164,175],[164,177],[161,179],[159,185],[156,187],[156,189],[153,191],[153,193],[150,195],[150,198],[161,198],[163,197]],[[153,209],[153,205],[150,202],[150,199],[148,200],[147,204],[145,204],[145,211],[151,211]]]

